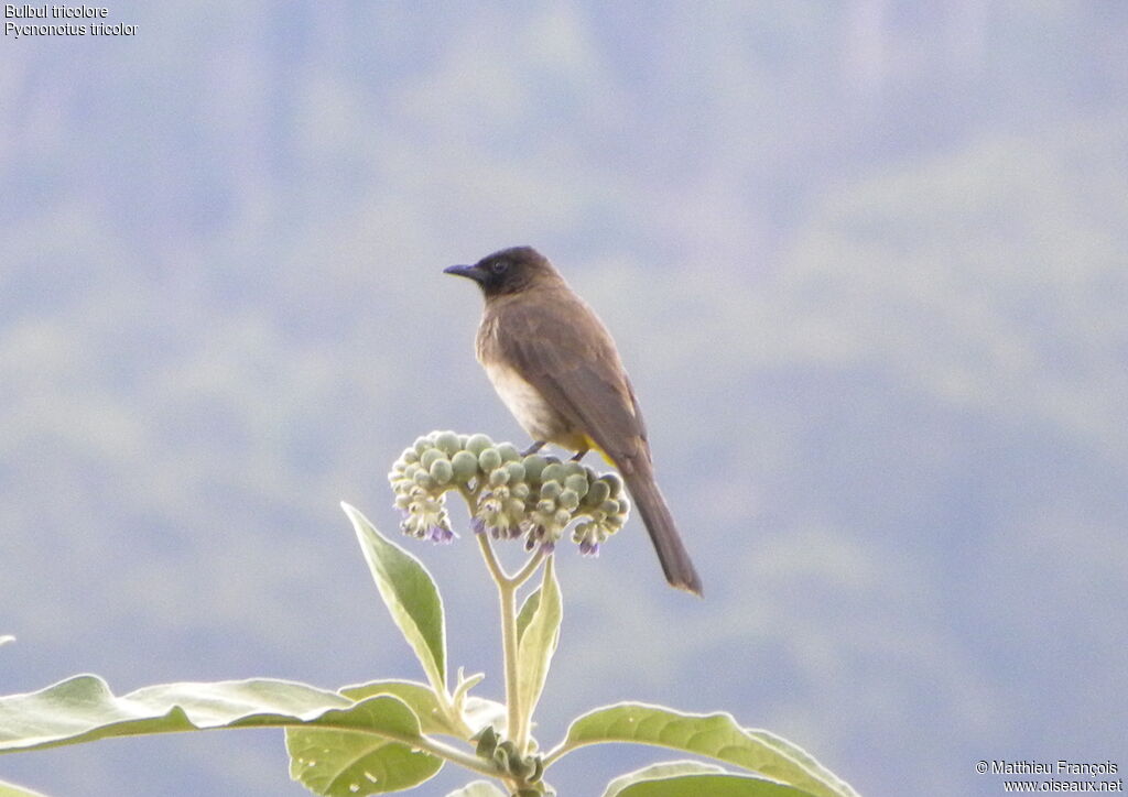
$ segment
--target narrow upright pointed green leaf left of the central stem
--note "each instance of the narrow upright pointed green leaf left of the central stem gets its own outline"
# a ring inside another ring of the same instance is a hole
[[[415,650],[428,681],[439,691],[447,689],[447,632],[442,597],[431,574],[418,559],[385,539],[364,515],[349,504],[342,508],[352,521],[364,559],[380,596]]]

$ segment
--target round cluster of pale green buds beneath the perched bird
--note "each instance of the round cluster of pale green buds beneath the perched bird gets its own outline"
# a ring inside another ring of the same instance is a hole
[[[455,537],[446,494],[460,493],[478,533],[525,538],[526,548],[552,550],[572,525],[583,554],[626,522],[631,504],[616,473],[599,475],[580,462],[522,457],[510,443],[484,434],[432,432],[406,449],[388,475],[404,533],[435,542]]]

